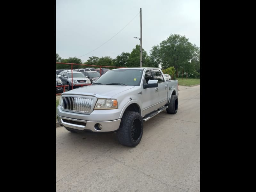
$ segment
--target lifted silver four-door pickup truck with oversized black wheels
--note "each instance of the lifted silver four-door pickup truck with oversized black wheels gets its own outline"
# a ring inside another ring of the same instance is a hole
[[[70,132],[116,132],[118,141],[140,143],[143,121],[178,110],[178,80],[159,68],[109,70],[92,85],[61,94],[57,119]]]

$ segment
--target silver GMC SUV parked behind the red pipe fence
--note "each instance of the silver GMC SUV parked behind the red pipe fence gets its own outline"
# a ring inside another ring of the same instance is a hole
[[[86,78],[83,73],[73,71],[73,82],[71,83],[71,72],[69,71],[64,71],[64,73],[60,76],[60,79],[63,82],[63,85],[68,85],[68,91],[72,89],[72,84],[73,84],[73,89],[76,87],[76,85],[83,85],[83,84],[91,84],[90,79]]]

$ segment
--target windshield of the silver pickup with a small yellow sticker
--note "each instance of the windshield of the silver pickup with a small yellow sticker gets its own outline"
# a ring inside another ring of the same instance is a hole
[[[142,69],[109,70],[93,84],[140,85]]]

